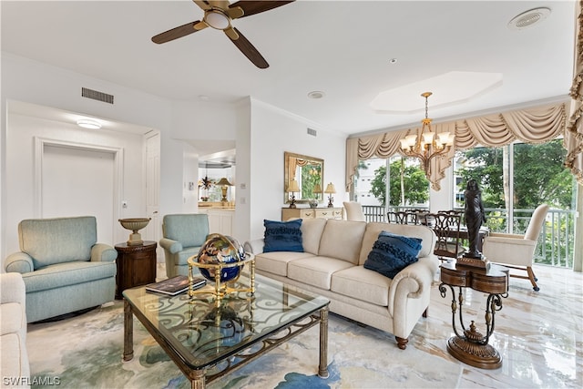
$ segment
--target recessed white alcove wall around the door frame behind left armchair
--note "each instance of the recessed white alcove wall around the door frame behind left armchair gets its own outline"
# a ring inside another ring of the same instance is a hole
[[[8,114],[6,141],[6,174],[4,177],[6,226],[6,253],[18,251],[18,231],[16,226],[23,219],[39,218],[36,208],[35,163],[39,156],[34,148],[35,138],[45,138],[51,142],[68,142],[78,145],[91,145],[101,148],[118,148],[123,150],[122,188],[119,189],[123,200],[128,201],[128,208],[118,207],[118,218],[143,216],[145,210],[145,191],[142,175],[143,145],[140,135],[123,134],[112,131],[96,131],[78,128],[76,124],[67,124],[45,118],[33,118],[15,113]],[[62,174],[75,174],[71,167]],[[77,174],[82,174],[77,172]],[[71,177],[73,180],[74,177]],[[87,199],[87,202],[99,199]],[[80,216],[80,215],[79,215]],[[97,223],[99,220],[97,220]],[[114,244],[127,240],[127,230],[120,225],[114,227],[115,241],[101,241]],[[97,237],[99,238],[99,237]]]

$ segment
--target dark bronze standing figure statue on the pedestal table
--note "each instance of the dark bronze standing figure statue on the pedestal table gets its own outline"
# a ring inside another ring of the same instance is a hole
[[[465,226],[469,248],[464,256],[469,258],[482,258],[482,253],[477,250],[478,236],[482,223],[486,222],[486,214],[482,205],[482,191],[478,188],[476,179],[467,181],[464,191],[465,197]]]

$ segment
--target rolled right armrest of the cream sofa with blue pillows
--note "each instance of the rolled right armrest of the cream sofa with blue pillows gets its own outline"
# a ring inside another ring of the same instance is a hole
[[[435,255],[420,258],[394,276],[389,288],[389,313],[395,317],[395,310],[406,299],[420,299],[431,293],[431,284],[437,271]]]

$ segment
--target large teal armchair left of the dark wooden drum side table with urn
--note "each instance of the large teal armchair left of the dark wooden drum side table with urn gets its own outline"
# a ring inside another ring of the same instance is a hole
[[[114,300],[118,251],[97,243],[95,217],[22,220],[18,238],[5,271],[22,274],[28,322]]]

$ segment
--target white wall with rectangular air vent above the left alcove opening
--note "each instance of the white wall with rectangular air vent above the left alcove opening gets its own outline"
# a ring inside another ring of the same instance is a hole
[[[121,87],[107,81],[87,77],[66,69],[51,67],[24,57],[2,53],[1,58],[1,105],[0,105],[0,255],[2,260],[10,250],[17,245],[12,234],[15,231],[15,214],[7,212],[13,207],[12,199],[18,196],[28,196],[26,192],[17,191],[6,184],[8,158],[7,148],[14,149],[7,135],[8,101],[23,101],[44,107],[54,107],[68,112],[87,115],[94,118],[104,118],[111,122],[132,123],[138,126],[160,131],[161,162],[160,162],[160,213],[182,210],[183,181],[183,143],[172,138],[171,134],[171,104],[168,100],[151,96],[138,90]],[[81,97],[81,88],[88,87],[114,95],[113,105]],[[51,131],[57,131],[54,125],[48,126]],[[76,126],[77,129],[77,126]],[[68,128],[70,131],[71,128]],[[105,141],[105,140],[104,140]],[[111,142],[111,140],[107,140]],[[141,147],[141,142],[139,143]],[[20,145],[16,150],[28,153],[32,144]],[[140,148],[141,153],[141,148]],[[141,154],[138,157],[139,174],[142,175]],[[26,161],[18,168],[18,164],[10,163],[11,169],[19,169],[20,177],[28,182],[33,174],[30,167],[32,160]],[[132,180],[128,179],[129,185]],[[12,184],[11,184],[12,185]],[[131,189],[130,189],[131,190]],[[8,204],[8,199],[11,199]],[[30,204],[26,200],[26,204]],[[26,205],[26,207],[29,207]],[[21,208],[19,214],[30,214],[32,209]]]

